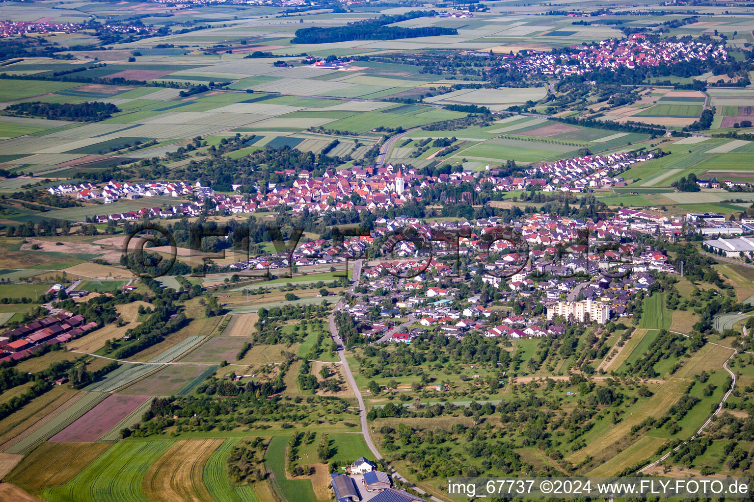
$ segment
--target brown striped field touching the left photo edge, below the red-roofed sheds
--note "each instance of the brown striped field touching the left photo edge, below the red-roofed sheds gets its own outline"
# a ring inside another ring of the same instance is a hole
[[[77,391],[65,388],[63,385],[56,385],[50,391],[32,400],[31,403],[27,403],[17,412],[0,420],[0,431],[2,431],[0,449],[8,448],[12,444],[8,443],[10,440],[20,439],[20,437],[17,437],[20,434],[23,434],[23,436],[29,434],[48,421],[51,416],[70,406],[75,399],[78,399],[78,397],[75,397],[72,400],[75,394],[78,394]],[[69,400],[71,400],[70,403],[67,402]]]

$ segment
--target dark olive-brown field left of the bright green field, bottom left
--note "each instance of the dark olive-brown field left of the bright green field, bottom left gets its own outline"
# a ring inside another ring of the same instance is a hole
[[[40,443],[8,476],[8,481],[32,493],[65,485],[102,455],[112,443]]]

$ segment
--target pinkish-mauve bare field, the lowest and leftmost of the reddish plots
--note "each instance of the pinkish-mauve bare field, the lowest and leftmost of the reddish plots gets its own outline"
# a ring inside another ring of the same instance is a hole
[[[81,418],[51,437],[58,443],[84,443],[96,441],[118,422],[141,406],[149,396],[120,396],[113,394],[94,406]]]

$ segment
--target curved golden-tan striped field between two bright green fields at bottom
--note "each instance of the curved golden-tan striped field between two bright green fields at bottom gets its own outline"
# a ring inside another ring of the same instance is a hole
[[[142,489],[155,502],[212,500],[204,486],[204,464],[223,438],[181,440],[170,447],[144,475]]]

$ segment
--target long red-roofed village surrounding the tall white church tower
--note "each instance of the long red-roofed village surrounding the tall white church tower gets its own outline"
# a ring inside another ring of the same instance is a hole
[[[285,183],[256,184],[255,195],[216,193],[211,187],[204,187],[201,181],[189,184],[184,181],[148,181],[144,183],[108,181],[101,187],[92,183],[60,184],[48,188],[52,195],[69,195],[79,202],[110,204],[119,199],[140,199],[153,196],[193,196],[193,202],[180,202],[171,207],[152,206],[128,211],[127,213],[93,214],[91,222],[103,223],[109,220],[137,220],[142,218],[173,218],[182,215],[195,215],[204,207],[205,200],[213,203],[219,214],[253,213],[275,211],[280,206],[290,208],[294,213],[308,211],[323,214],[328,211],[394,208],[406,202],[421,202],[422,190],[437,184],[474,184],[478,193],[483,184],[489,183],[496,192],[530,190],[532,187],[543,192],[584,193],[594,188],[624,186],[624,178],[619,172],[634,163],[654,158],[654,154],[631,156],[627,153],[608,156],[587,155],[556,163],[525,169],[526,176],[514,178],[501,174],[503,169],[486,169],[483,172],[461,170],[437,176],[421,175],[419,169],[401,165],[396,169],[388,166],[354,166],[350,169],[326,170],[322,176],[313,177],[306,170],[296,172],[285,169],[275,172],[286,178]],[[405,173],[405,174],[404,174]],[[240,185],[234,185],[239,190]],[[354,196],[360,204],[354,203]],[[97,206],[93,207],[97,211]],[[100,212],[100,211],[97,211]],[[88,223],[82,221],[78,223]]]

